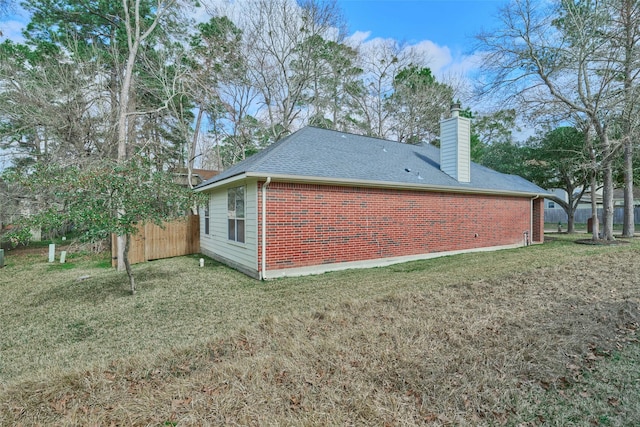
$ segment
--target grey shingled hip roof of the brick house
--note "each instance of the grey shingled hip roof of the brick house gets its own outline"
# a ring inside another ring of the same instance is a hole
[[[516,175],[471,164],[471,181],[461,183],[440,170],[439,149],[305,127],[196,187],[223,185],[236,177],[465,192],[547,195]]]

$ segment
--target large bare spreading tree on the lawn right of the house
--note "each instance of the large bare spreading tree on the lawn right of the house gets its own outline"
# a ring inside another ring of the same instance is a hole
[[[622,91],[620,49],[602,38],[602,29],[611,25],[603,3],[515,0],[501,13],[502,27],[478,40],[486,52],[485,93],[515,100],[531,114],[579,115],[589,123],[604,184],[603,238],[612,240],[612,162],[620,141],[611,139],[610,126],[618,118]]]

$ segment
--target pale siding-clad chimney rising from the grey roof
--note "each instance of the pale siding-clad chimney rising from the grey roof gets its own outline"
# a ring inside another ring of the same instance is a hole
[[[440,122],[440,170],[458,182],[471,181],[471,120],[451,104],[451,118]]]

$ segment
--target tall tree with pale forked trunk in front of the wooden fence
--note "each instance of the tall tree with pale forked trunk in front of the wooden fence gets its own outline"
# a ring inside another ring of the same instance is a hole
[[[105,138],[102,152],[93,150],[88,155],[97,156],[98,159],[112,158],[123,163],[132,153],[141,153],[134,150],[140,135],[136,117],[145,116],[157,123],[158,113],[166,110],[174,97],[171,91],[157,90],[158,76],[167,67],[166,62],[155,60],[163,57],[155,52],[160,36],[164,36],[166,44],[179,34],[180,27],[184,27],[184,24],[178,25],[184,22],[182,6],[178,0],[106,3],[97,0],[54,3],[34,0],[25,4],[32,14],[25,33],[31,46],[71,55],[67,60],[77,66],[97,62],[105,67],[102,73],[94,75],[94,80],[107,82],[108,102],[104,104],[109,105],[109,125],[103,124],[102,129],[112,132],[111,136]],[[145,67],[147,69],[143,72]],[[138,80],[135,79],[136,74],[140,76]],[[175,79],[175,72],[172,77]],[[141,89],[144,84],[147,87]],[[172,86],[165,85],[167,87]],[[104,92],[93,90],[95,95]],[[148,101],[154,99],[155,105],[150,106]],[[73,130],[72,127],[70,129]],[[150,130],[149,134],[159,135],[156,129]],[[69,138],[70,141],[77,139],[77,132]],[[124,210],[118,213],[118,216],[125,215]],[[133,275],[128,262],[128,235],[118,236],[118,242],[118,267],[127,270],[133,288]]]

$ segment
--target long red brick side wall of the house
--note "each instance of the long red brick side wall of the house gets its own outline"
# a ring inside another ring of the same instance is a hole
[[[267,270],[521,243],[530,216],[529,198],[274,182]]]

